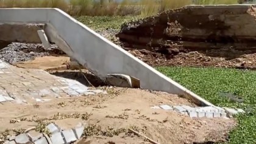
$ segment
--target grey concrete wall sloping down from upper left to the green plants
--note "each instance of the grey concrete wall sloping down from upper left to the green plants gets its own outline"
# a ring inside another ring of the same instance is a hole
[[[108,74],[130,75],[140,80],[143,89],[184,95],[199,105],[212,105],[62,10],[0,9],[0,24],[45,24],[42,29],[49,41],[103,80]]]

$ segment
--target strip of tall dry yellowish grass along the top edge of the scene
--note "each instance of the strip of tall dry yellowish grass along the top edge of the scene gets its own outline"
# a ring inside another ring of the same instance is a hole
[[[69,15],[80,16],[124,16],[142,15],[149,16],[169,9],[176,9],[185,5],[199,4],[237,4],[237,0],[138,0],[136,2],[123,0],[0,0],[1,8],[36,8],[50,7],[59,8]]]

